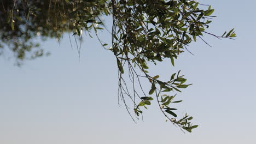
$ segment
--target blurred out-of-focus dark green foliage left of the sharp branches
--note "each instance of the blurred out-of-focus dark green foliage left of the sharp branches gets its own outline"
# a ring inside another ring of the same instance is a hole
[[[102,10],[106,10],[103,2],[2,0],[0,3],[0,49],[9,47],[18,64],[44,54],[35,42],[37,36],[46,40],[61,39],[64,32],[80,35],[81,29],[89,31]]]

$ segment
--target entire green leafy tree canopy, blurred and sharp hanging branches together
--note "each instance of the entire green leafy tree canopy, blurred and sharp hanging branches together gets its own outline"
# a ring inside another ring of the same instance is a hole
[[[201,39],[208,45],[203,35],[218,39],[236,37],[234,29],[222,35],[208,32],[214,9],[197,1],[2,0],[1,3],[2,52],[10,49],[18,62],[22,62],[44,55],[43,48],[34,42],[39,35],[43,39],[60,39],[64,33],[80,37],[83,31],[89,36],[94,32],[104,49],[112,51],[117,59],[118,95],[131,118],[135,121],[135,117],[141,117],[143,110],[156,101],[166,121],[189,132],[197,127],[190,122],[193,117],[187,113],[178,116],[173,105],[182,102],[176,100],[176,95],[191,84],[186,83],[181,71],[162,81],[159,75],[150,75],[148,64],[157,64],[167,58],[174,66],[175,59],[188,51],[189,44]],[[112,17],[111,29],[101,21],[103,16]],[[102,29],[112,35],[109,44],[103,43],[97,35]],[[124,79],[124,75],[128,78]],[[141,79],[148,80],[149,91],[142,87]],[[127,100],[133,105],[128,105]]]

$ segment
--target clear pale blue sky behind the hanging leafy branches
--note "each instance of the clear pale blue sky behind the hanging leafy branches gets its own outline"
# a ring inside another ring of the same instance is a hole
[[[200,2],[211,4],[218,16],[210,32],[235,28],[236,40],[205,37],[212,47],[198,41],[189,47],[195,56],[186,51],[175,67],[166,59],[150,69],[163,80],[181,69],[193,83],[178,94],[183,103],[177,105],[177,114],[187,112],[199,124],[193,133],[166,123],[156,101],[144,111],[144,122],[135,124],[118,105],[113,53],[86,37],[79,62],[66,35],[60,44],[41,44],[51,56],[21,68],[0,57],[0,143],[255,143],[256,2]]]

